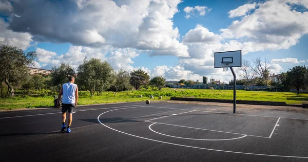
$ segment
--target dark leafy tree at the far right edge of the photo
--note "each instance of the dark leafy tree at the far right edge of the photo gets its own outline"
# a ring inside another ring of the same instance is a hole
[[[290,80],[291,86],[297,89],[297,94],[299,94],[299,89],[304,86],[305,73],[304,66],[296,66],[286,72],[286,80]]]

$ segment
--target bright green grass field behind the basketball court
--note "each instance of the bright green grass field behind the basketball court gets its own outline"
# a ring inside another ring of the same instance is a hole
[[[114,97],[114,92],[103,92],[101,95],[90,97],[89,92],[80,91],[79,105],[119,103],[119,102],[136,102],[144,101],[153,95],[158,100],[158,96],[163,96],[163,100],[170,97],[197,97],[197,98],[215,98],[215,99],[233,99],[233,90],[208,90],[208,89],[171,89],[164,88],[162,91],[139,90],[118,92]],[[140,98],[142,95],[143,98]],[[18,108],[36,108],[52,107],[53,95],[41,96],[16,96],[14,98],[1,98],[0,110],[18,109]],[[286,102],[287,104],[308,103],[308,94],[302,93],[297,95],[291,92],[262,92],[262,91],[243,91],[237,90],[238,100],[260,100],[272,102]]]

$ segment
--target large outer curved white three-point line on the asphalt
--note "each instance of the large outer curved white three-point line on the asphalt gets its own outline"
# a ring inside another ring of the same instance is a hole
[[[118,109],[114,109],[114,110],[118,110]],[[110,112],[110,111],[114,111],[114,110],[109,110],[109,111],[106,111],[106,112],[104,112],[104,113],[107,113],[107,112]],[[100,121],[100,116],[103,115],[104,113],[102,113],[102,114],[100,114],[100,115],[98,116],[98,121],[100,122],[101,125],[103,125],[103,126],[109,128],[109,129],[111,129],[111,130],[114,130],[114,131],[123,133],[123,134],[127,134],[127,135],[130,135],[130,136],[138,137],[138,138],[142,138],[142,139],[147,139],[147,140],[151,140],[151,141],[156,141],[156,142],[158,142],[158,143],[169,144],[169,145],[175,145],[175,146],[182,146],[182,147],[188,147],[188,148],[195,148],[195,149],[202,149],[202,150],[219,151],[219,152],[228,152],[228,153],[237,153],[237,154],[246,154],[246,155],[260,155],[260,156],[274,156],[274,157],[293,157],[293,158],[308,158],[308,157],[303,157],[303,156],[284,156],[284,155],[269,155],[269,154],[256,154],[256,153],[247,153],[247,152],[226,151],[226,150],[217,150],[217,149],[209,149],[209,148],[201,148],[201,147],[180,145],[180,144],[174,144],[174,143],[167,143],[167,142],[165,142],[165,141],[155,140],[155,139],[150,139],[150,138],[145,138],[145,137],[141,137],[141,136],[137,136],[137,135],[125,133],[125,132],[122,132],[122,131],[113,129],[113,128],[111,128],[111,127],[108,127],[108,126],[104,125],[104,124]]]

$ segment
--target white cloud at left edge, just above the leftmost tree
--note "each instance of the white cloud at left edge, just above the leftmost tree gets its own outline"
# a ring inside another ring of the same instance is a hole
[[[14,32],[9,25],[0,18],[0,45],[14,46],[26,50],[31,46],[32,36],[29,33]]]

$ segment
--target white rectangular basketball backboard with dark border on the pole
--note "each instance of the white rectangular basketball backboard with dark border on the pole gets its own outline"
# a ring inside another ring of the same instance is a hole
[[[214,53],[214,67],[223,68],[224,64],[221,62],[228,61],[230,64],[227,67],[241,67],[242,66],[242,51],[226,51]]]

